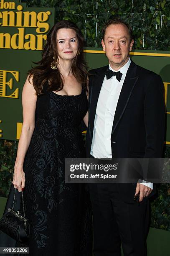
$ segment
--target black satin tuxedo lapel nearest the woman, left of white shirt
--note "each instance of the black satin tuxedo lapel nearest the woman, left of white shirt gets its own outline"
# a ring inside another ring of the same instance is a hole
[[[108,68],[108,67],[107,67]],[[91,84],[91,95],[89,99],[89,125],[90,125],[90,137],[92,138],[93,128],[94,128],[94,118],[96,115],[96,107],[97,102],[101,90],[101,85],[103,83],[106,69],[102,70],[101,74],[97,74],[93,78],[93,82]]]

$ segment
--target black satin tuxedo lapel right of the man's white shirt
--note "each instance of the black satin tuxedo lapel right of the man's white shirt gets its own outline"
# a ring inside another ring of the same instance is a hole
[[[127,103],[130,99],[130,96],[132,95],[132,91],[134,89],[134,86],[137,83],[138,78],[139,77],[137,76],[137,66],[131,60],[131,64],[129,66],[129,69],[127,70],[127,74],[124,79],[122,90],[120,92],[119,100],[117,102],[117,108],[114,115],[114,121],[113,121],[113,127],[112,127],[112,134],[114,133],[120,119],[122,118],[122,115],[124,113],[124,110],[127,107]]]

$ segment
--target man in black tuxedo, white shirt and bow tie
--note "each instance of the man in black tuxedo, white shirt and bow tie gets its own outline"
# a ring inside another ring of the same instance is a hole
[[[160,158],[165,115],[160,76],[129,59],[134,41],[124,21],[109,21],[101,43],[109,66],[90,72],[87,157]],[[89,189],[94,256],[120,256],[121,243],[124,256],[145,256],[153,184],[89,184]]]

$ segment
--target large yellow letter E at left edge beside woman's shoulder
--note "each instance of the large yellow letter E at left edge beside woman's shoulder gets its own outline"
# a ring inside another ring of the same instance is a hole
[[[9,81],[7,81],[8,73],[12,74],[17,82],[19,81],[18,71],[0,70],[0,97],[18,98],[19,88],[17,88],[11,95],[6,95],[7,85],[10,87],[10,89],[13,89],[13,79],[11,78]]]

